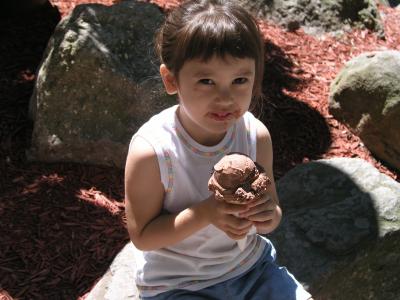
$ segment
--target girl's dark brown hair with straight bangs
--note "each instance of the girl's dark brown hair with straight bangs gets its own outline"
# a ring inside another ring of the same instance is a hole
[[[234,1],[185,1],[166,18],[156,35],[161,63],[178,75],[185,61],[213,55],[255,60],[253,99],[262,97],[264,44],[256,20]],[[253,103],[254,104],[254,103]]]

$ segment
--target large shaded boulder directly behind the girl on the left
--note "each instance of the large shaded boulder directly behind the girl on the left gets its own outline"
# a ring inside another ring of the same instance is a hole
[[[164,93],[155,5],[79,5],[57,26],[30,102],[29,158],[123,167],[132,134],[174,103]]]

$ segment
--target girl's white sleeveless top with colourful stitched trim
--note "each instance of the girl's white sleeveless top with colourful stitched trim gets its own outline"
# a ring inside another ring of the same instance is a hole
[[[157,154],[165,187],[164,209],[176,213],[210,196],[207,183],[213,166],[229,152],[256,160],[255,117],[246,112],[215,146],[194,141],[176,115],[178,105],[152,117],[133,136],[146,140]],[[172,289],[199,290],[248,270],[261,256],[265,241],[247,237],[243,251],[213,225],[183,241],[155,251],[135,249],[136,285],[142,296]]]

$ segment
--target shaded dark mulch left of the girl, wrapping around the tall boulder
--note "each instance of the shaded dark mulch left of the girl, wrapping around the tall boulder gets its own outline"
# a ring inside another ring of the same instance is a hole
[[[28,3],[0,3],[0,298],[76,299],[129,239],[123,174],[26,161],[34,75],[60,20]]]

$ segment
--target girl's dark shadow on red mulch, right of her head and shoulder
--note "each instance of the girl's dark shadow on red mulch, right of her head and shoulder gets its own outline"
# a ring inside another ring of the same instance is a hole
[[[284,91],[301,89],[306,82],[294,74],[294,64],[277,45],[267,41],[260,119],[268,127],[274,147],[274,171],[279,178],[304,160],[321,158],[332,143],[324,117]]]

